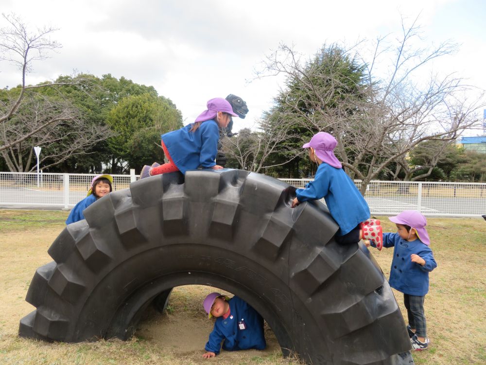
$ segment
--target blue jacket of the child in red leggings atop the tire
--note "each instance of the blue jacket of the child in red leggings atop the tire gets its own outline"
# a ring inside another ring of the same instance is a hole
[[[215,120],[202,122],[194,132],[192,125],[162,134],[174,164],[183,174],[199,166],[208,168],[216,165],[218,153],[219,127]]]

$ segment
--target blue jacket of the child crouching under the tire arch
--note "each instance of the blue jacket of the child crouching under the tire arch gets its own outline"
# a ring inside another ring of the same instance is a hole
[[[221,341],[226,351],[265,348],[265,336],[263,334],[263,318],[243,299],[236,295],[228,300],[229,317],[216,318],[214,329],[209,334],[209,341],[204,347],[206,351],[219,354]],[[240,329],[243,323],[245,329]]]

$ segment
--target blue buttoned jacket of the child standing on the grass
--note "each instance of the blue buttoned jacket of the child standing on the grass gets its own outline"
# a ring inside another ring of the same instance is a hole
[[[371,242],[374,247],[374,243]],[[383,233],[383,247],[393,249],[390,269],[390,286],[399,292],[424,296],[429,292],[429,272],[437,267],[432,250],[420,239],[406,241],[398,233]],[[422,266],[412,262],[410,255],[416,254],[425,260]]]

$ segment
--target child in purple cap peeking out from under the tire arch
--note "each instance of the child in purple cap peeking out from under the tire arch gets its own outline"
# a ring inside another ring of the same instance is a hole
[[[226,351],[265,348],[263,318],[243,299],[236,295],[228,299],[225,295],[212,292],[204,299],[203,307],[209,318],[216,317],[214,329],[204,347],[207,351],[204,358],[219,354],[223,340]]]

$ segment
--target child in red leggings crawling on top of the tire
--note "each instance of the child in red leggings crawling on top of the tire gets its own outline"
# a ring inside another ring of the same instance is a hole
[[[186,174],[187,170],[199,166],[223,168],[216,164],[219,128],[226,128],[231,116],[237,117],[238,114],[233,112],[231,104],[223,98],[209,100],[207,108],[194,123],[161,136],[160,144],[169,162],[143,166],[140,179],[175,171]]]

